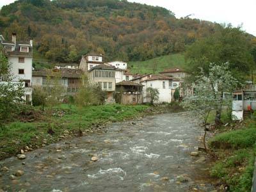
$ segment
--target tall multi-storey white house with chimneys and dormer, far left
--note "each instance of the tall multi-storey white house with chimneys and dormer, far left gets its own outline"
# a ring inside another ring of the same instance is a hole
[[[25,99],[32,101],[32,62],[33,62],[33,40],[28,42],[17,41],[16,34],[12,34],[12,40],[6,41],[0,35],[0,43],[6,51],[10,65],[10,73],[13,83],[24,82]]]

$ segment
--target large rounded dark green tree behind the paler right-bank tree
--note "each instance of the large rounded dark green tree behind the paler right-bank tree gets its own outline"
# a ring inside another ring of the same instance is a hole
[[[189,60],[188,71],[196,77],[200,74],[198,68],[205,73],[209,72],[210,63],[221,65],[230,63],[228,68],[237,79],[244,79],[250,74],[252,68],[252,55],[250,54],[250,40],[240,28],[231,26],[219,27],[215,33],[200,38],[186,51]]]

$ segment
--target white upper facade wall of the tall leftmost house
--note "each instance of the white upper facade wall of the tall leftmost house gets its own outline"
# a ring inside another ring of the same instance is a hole
[[[19,56],[9,56],[8,61],[13,81],[19,81],[20,79],[32,81],[32,58],[25,57],[24,63],[19,63]],[[19,74],[19,68],[24,69],[24,74]]]

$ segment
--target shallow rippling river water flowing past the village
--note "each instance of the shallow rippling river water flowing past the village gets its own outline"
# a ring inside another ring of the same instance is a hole
[[[114,123],[106,133],[51,144],[24,160],[1,161],[10,170],[0,177],[0,191],[211,191],[207,163],[189,155],[201,135],[186,113]],[[17,170],[24,175],[11,180]],[[177,180],[182,174],[188,182]]]

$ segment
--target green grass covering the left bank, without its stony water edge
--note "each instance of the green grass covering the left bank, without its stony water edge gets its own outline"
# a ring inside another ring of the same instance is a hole
[[[0,159],[17,154],[26,145],[40,147],[44,139],[48,143],[54,143],[59,140],[65,130],[70,131],[71,135],[76,135],[79,127],[82,131],[86,131],[86,129],[93,129],[96,125],[133,118],[142,115],[147,108],[149,107],[145,105],[108,104],[80,109],[76,106],[70,108],[68,104],[61,104],[52,109],[51,116],[47,115],[49,111],[43,113],[36,108],[38,113],[42,113],[40,120],[11,122],[0,129]],[[54,131],[52,135],[47,133],[50,127]]]

